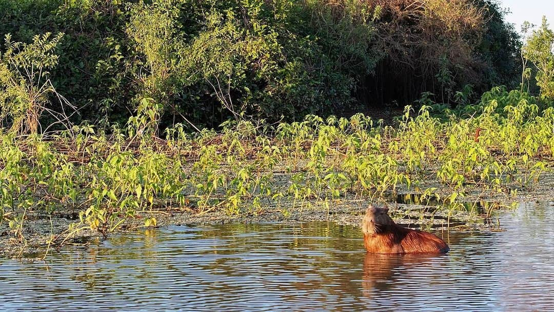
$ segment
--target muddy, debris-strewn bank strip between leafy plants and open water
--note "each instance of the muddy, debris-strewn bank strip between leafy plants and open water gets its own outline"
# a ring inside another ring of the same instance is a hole
[[[434,233],[449,232],[490,232],[502,231],[494,212],[499,209],[514,208],[513,203],[554,201],[554,175],[543,175],[535,188],[520,190],[515,198],[506,196],[483,196],[483,193],[468,193],[465,202],[449,205],[430,200],[424,204],[414,193],[403,193],[396,197],[381,198],[382,204],[391,207],[391,216],[404,227],[423,229]],[[384,201],[388,201],[384,203]],[[401,203],[398,203],[401,202]],[[404,203],[402,203],[404,202]],[[415,204],[419,202],[419,204]],[[227,223],[282,223],[294,224],[323,221],[345,226],[359,227],[365,209],[371,200],[346,198],[334,201],[310,201],[302,208],[292,209],[292,203],[284,207],[265,205],[253,213],[229,215],[219,210],[206,212],[181,211],[165,208],[158,211],[137,212],[134,218],[127,218],[116,231],[124,234],[145,229],[145,220],[156,219],[156,226],[197,226]],[[73,224],[73,226],[72,226]],[[68,229],[81,228],[70,234]],[[361,233],[361,232],[360,232]],[[60,248],[73,244],[88,244],[105,237],[98,231],[79,225],[79,214],[74,211],[28,213],[23,227],[23,241],[17,239],[14,230],[7,224],[0,224],[0,257],[43,259],[47,252],[57,252]],[[361,235],[361,234],[360,234]]]

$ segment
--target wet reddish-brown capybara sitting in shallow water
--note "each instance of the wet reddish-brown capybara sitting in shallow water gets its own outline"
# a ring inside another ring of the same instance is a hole
[[[362,222],[363,243],[371,253],[445,253],[450,248],[434,234],[398,226],[388,208],[367,208]]]

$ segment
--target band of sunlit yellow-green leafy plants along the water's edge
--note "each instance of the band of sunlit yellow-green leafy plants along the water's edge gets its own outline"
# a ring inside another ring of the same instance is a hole
[[[468,192],[509,198],[551,171],[554,109],[541,109],[536,98],[494,88],[448,115],[433,115],[433,105],[417,114],[407,106],[395,127],[356,114],[233,121],[196,135],[176,125],[165,140],[137,136],[136,122],[110,135],[93,126],[23,140],[1,132],[0,221],[23,242],[29,212],[74,211],[78,221],[66,234],[107,235],[145,212],[146,227],[156,226],[160,211],[259,214],[275,206],[289,216],[399,189],[447,207],[448,216],[474,214],[459,202]]]

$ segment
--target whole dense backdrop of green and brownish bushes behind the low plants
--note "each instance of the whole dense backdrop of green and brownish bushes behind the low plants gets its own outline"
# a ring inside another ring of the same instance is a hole
[[[0,0],[0,10],[2,37],[65,34],[52,84],[78,109],[73,121],[100,125],[126,122],[143,99],[162,127],[407,103],[423,91],[448,101],[465,84],[510,83],[498,59],[519,57],[488,0]]]

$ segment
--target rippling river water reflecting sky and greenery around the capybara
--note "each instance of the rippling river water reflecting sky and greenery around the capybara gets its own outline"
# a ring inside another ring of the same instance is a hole
[[[327,223],[172,227],[0,260],[0,311],[545,311],[554,308],[554,203],[505,231],[443,233],[445,255],[372,255]],[[441,233],[438,233],[439,236]]]

